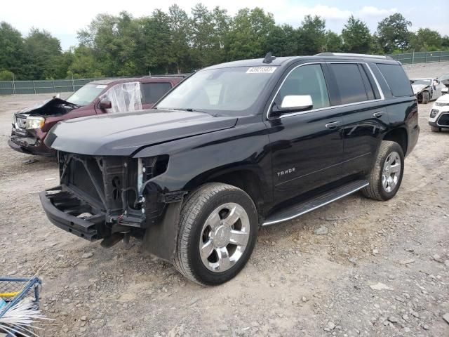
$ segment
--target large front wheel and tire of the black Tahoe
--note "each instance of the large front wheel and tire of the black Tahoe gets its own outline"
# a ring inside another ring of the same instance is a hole
[[[253,252],[257,219],[254,202],[243,190],[222,183],[201,185],[181,209],[175,268],[199,284],[229,281]]]

